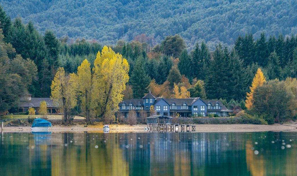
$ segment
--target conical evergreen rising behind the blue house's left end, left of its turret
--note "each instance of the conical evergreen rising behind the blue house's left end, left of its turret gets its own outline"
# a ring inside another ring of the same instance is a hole
[[[131,85],[133,91],[133,98],[135,99],[142,98],[148,92],[149,83],[151,82],[143,64],[144,59],[139,57],[129,80],[129,85]]]

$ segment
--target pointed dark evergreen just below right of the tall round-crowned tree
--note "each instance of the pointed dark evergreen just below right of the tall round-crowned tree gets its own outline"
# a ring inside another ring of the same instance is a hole
[[[188,55],[187,50],[183,50],[181,56],[179,57],[179,62],[177,64],[178,69],[181,74],[184,74],[189,80],[192,80],[192,61]]]

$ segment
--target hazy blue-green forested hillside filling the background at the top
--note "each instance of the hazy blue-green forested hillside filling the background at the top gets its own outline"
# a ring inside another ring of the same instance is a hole
[[[251,33],[255,39],[297,33],[295,0],[0,0],[13,19],[31,20],[44,34],[50,29],[60,37],[95,39],[114,45],[140,34],[151,37],[151,45],[178,34],[187,50],[204,40],[210,50],[221,42],[234,44],[238,35]]]

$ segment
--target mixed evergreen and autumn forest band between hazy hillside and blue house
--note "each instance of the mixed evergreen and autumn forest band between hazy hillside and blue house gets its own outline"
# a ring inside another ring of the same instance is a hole
[[[11,20],[0,7],[0,112],[15,112],[21,97],[50,97],[57,70],[65,75],[79,74],[83,65],[95,70],[96,40],[57,38],[52,30],[44,34],[21,18]],[[196,41],[193,50],[178,34],[166,36],[155,45],[145,34],[131,42],[118,40],[112,52],[121,54],[129,64],[129,81],[124,99],[141,98],[151,91],[156,97],[221,99],[236,113],[264,122],[296,119],[297,114],[297,35],[255,39],[252,33],[239,35],[234,45],[218,42],[211,51],[204,41]],[[84,63],[84,64],[83,64]],[[86,64],[88,63],[88,64]],[[263,85],[254,87],[257,70],[263,72]],[[93,72],[90,72],[90,75]],[[251,106],[247,108],[247,92]],[[257,97],[257,98],[256,98]],[[250,99],[249,99],[250,101]],[[83,101],[73,111],[81,112]],[[263,105],[264,104],[264,105]],[[257,106],[256,106],[257,105]]]

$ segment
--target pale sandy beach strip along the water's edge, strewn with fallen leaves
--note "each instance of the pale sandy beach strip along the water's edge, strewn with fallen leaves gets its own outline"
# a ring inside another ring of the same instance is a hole
[[[146,133],[147,125],[109,125],[109,133]],[[180,127],[179,127],[180,128]],[[52,133],[103,133],[103,125],[82,125],[75,124],[69,126],[53,125],[50,127]],[[215,132],[261,132],[261,131],[286,131],[297,132],[297,123],[274,124],[274,125],[253,125],[253,124],[222,124],[222,125],[196,125],[195,133],[215,133]],[[4,133],[31,133],[31,126],[4,126]]]

